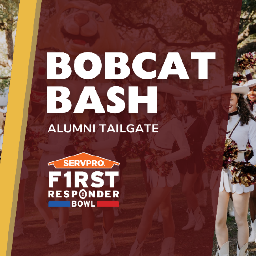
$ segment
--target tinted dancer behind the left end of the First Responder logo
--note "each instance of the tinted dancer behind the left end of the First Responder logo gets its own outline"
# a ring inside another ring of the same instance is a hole
[[[46,103],[46,101],[41,101]],[[57,103],[58,104],[58,103]],[[43,126],[43,132],[48,135],[48,144],[38,143],[38,148],[43,150],[43,155],[39,161],[39,168],[37,171],[37,181],[34,191],[34,203],[45,219],[46,227],[51,233],[51,238],[48,240],[49,245],[55,245],[66,241],[65,230],[67,228],[67,222],[69,220],[69,208],[59,207],[59,223],[53,217],[53,213],[46,200],[48,199],[49,189],[49,171],[61,171],[61,177],[58,182],[54,182],[52,190],[66,190],[66,178],[64,176],[69,169],[56,169],[53,165],[48,166],[51,161],[65,158],[64,149],[68,145],[70,133],[68,132],[49,132],[49,127],[54,124],[56,128],[59,125],[60,130],[64,130],[64,125],[69,127],[70,112],[64,114],[45,113],[45,122]],[[55,198],[55,200],[61,200],[61,198]]]

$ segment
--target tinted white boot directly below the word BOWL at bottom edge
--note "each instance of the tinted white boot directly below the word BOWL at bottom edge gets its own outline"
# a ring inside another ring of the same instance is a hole
[[[80,249],[72,256],[85,256],[95,254],[95,247],[93,245],[93,230],[85,228],[80,233]]]

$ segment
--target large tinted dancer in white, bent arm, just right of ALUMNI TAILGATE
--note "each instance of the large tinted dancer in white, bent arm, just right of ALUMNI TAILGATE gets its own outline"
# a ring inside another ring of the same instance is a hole
[[[190,150],[182,124],[177,119],[176,102],[173,96],[181,96],[180,91],[167,83],[152,84],[157,86],[157,115],[143,111],[152,123],[158,124],[158,133],[150,133],[150,147],[169,153],[158,157],[156,166],[147,169],[148,179],[152,184],[152,191],[143,210],[137,236],[130,250],[130,256],[141,253],[143,243],[150,232],[154,212],[159,207],[163,217],[164,240],[161,256],[173,256],[174,252],[174,220],[171,206],[171,190],[180,182],[180,173],[174,161],[189,156]],[[174,141],[177,141],[180,150],[171,153]],[[156,170],[165,162],[173,162],[171,172],[167,176],[160,176]],[[199,213],[198,213],[199,214]]]

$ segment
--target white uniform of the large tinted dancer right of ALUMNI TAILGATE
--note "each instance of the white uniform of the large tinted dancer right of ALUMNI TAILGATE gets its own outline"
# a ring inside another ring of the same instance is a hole
[[[164,114],[162,113],[161,115],[163,117]],[[150,116],[152,120],[152,115],[147,114],[147,118],[150,118]],[[173,161],[173,168],[166,177],[160,176],[154,170],[147,169],[148,181],[153,187],[165,187],[166,184],[168,187],[173,187],[180,182],[180,173],[174,161],[189,156],[189,144],[187,142],[183,126],[175,116],[173,116],[172,119],[163,126],[161,126],[162,121],[155,121],[155,123],[158,124],[158,132],[153,134],[151,131],[150,138],[152,138],[152,140],[149,148],[169,152],[165,158],[167,162]],[[175,140],[177,141],[180,150],[172,153],[172,147]]]

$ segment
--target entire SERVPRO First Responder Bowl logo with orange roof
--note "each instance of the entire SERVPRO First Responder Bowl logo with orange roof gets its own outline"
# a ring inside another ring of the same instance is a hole
[[[48,165],[54,165],[56,169],[80,169],[79,171],[74,172],[74,188],[80,188],[80,191],[77,190],[68,190],[71,188],[71,171],[67,171],[64,174],[67,182],[67,190],[65,191],[55,191],[49,190],[48,197],[55,198],[53,201],[49,201],[49,207],[70,207],[70,202],[72,207],[75,206],[91,206],[95,207],[117,207],[119,206],[119,202],[117,199],[119,198],[119,191],[113,190],[111,188],[115,187],[115,177],[119,177],[119,171],[109,171],[109,169],[113,168],[114,165],[119,165],[116,161],[111,161],[105,158],[101,158],[99,156],[93,156],[87,153],[80,153],[75,156],[69,156],[67,158],[62,158],[60,160],[49,162]],[[86,171],[86,169],[95,169],[94,172]],[[104,170],[106,169],[106,171]],[[87,184],[88,175],[90,177],[90,184]],[[61,171],[52,171],[49,172],[49,188],[54,188],[54,182],[58,182],[58,179],[61,176]],[[103,178],[104,176],[104,178]],[[104,186],[104,180],[108,180],[109,190],[101,191],[100,187]],[[89,190],[88,188],[94,187],[96,190]],[[85,189],[81,189],[87,188]],[[94,205],[94,200],[77,200],[77,197],[81,199],[87,198],[106,198],[106,200],[97,201],[97,204]],[[63,200],[59,200],[59,198],[63,198]],[[69,198],[67,200],[67,198]],[[71,198],[71,200],[70,200]],[[74,200],[73,200],[74,198]],[[108,200],[109,198],[110,200]],[[57,200],[56,200],[57,199]]]

